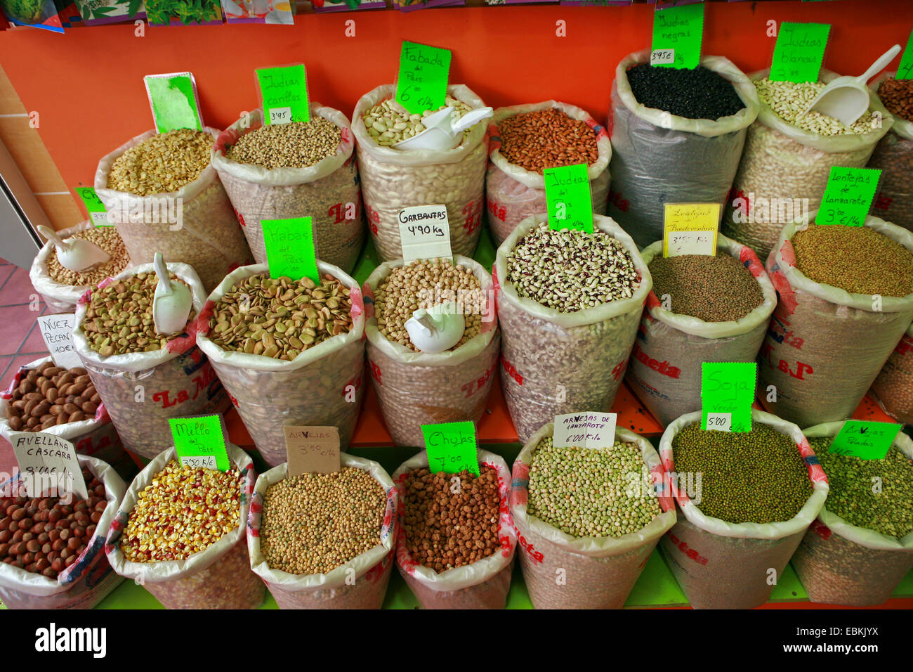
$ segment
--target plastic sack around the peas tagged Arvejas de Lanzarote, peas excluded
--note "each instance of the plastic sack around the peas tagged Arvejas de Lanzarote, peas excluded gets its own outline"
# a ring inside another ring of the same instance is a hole
[[[621,537],[572,537],[527,513],[532,453],[550,437],[553,423],[543,425],[523,446],[513,464],[510,513],[517,527],[523,581],[536,609],[620,609],[634,588],[656,542],[675,525],[671,496],[657,492],[662,513],[636,532]],[[663,465],[645,438],[622,427],[615,439],[636,443],[653,483],[666,482]],[[559,582],[563,577],[564,581]]]

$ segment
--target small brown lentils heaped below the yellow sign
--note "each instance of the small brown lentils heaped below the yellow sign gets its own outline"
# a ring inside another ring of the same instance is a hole
[[[740,320],[764,303],[761,285],[751,272],[728,254],[684,254],[649,264],[653,291],[660,301],[668,295],[671,312],[704,322]]]

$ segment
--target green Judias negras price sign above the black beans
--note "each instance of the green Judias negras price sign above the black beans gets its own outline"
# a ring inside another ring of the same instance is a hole
[[[657,68],[695,69],[704,38],[704,5],[656,7],[650,64]]]

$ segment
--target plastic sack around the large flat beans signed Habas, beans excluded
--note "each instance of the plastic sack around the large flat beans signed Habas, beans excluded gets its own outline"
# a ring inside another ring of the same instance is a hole
[[[268,274],[265,263],[229,273],[209,294],[197,320],[197,344],[215,367],[247,432],[270,466],[286,461],[284,425],[338,427],[341,450],[346,450],[362,406],[362,292],[358,283],[338,267],[317,261],[317,268],[350,289],[352,330],[304,350],[292,361],[224,350],[207,337],[216,302],[245,278]]]

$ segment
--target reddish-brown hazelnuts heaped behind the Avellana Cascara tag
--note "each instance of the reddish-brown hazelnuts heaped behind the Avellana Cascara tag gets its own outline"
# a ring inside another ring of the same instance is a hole
[[[88,548],[108,506],[105,485],[83,468],[89,499],[0,497],[0,560],[57,579]]]

